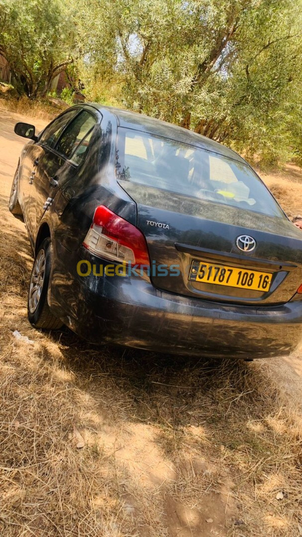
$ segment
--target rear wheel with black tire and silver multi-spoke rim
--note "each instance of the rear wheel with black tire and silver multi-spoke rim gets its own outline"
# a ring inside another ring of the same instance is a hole
[[[30,288],[28,289],[28,321],[30,321],[35,328],[42,328],[45,330],[58,330],[63,326],[62,321],[51,313],[47,302],[52,256],[52,241],[51,238],[48,237],[42,242],[37,252],[37,256],[35,256],[31,273]]]

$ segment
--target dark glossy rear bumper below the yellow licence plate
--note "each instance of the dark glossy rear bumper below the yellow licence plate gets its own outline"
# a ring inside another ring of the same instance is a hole
[[[290,354],[302,337],[300,301],[270,308],[230,306],[162,292],[139,277],[81,277],[74,270],[81,257],[71,265],[70,252],[70,270],[64,274],[63,253],[56,256],[48,300],[54,314],[91,343],[266,358]],[[96,263],[86,250],[82,259]]]

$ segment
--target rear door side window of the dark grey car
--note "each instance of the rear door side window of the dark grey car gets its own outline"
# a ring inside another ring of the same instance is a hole
[[[75,164],[80,164],[87,153],[95,124],[96,118],[93,115],[81,112],[64,130],[55,149]]]

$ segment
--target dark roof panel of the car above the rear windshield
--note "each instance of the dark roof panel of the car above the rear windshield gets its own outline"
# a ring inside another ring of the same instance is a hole
[[[172,125],[167,121],[161,121],[160,119],[150,118],[148,115],[139,114],[137,112],[131,112],[130,110],[123,110],[122,108],[115,108],[113,106],[103,106],[99,103],[85,103],[87,105],[97,108],[102,113],[102,110],[111,112],[114,114],[118,121],[119,127],[126,127],[134,130],[141,130],[157,136],[163,136],[179,142],[188,143],[192,146],[197,146],[219,155],[224,155],[229,158],[233,158],[236,161],[246,163],[240,155],[235,153],[232,149],[223,146],[221,143],[215,142],[206,136],[197,134],[193,130],[179,127],[178,125]]]

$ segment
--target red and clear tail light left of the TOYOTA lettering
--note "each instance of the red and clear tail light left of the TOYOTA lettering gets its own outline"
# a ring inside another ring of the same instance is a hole
[[[150,266],[146,239],[141,231],[104,205],[96,208],[83,246],[98,257],[131,266],[144,265],[146,269]]]

